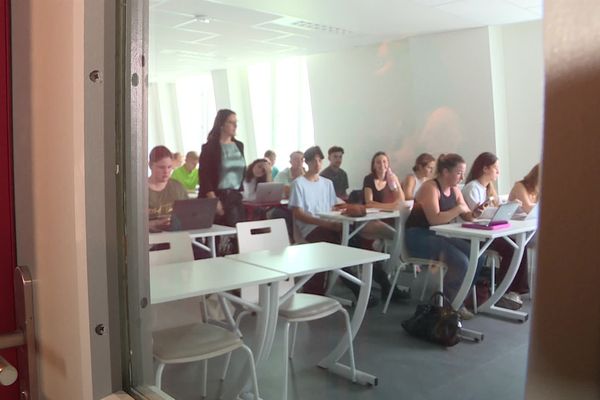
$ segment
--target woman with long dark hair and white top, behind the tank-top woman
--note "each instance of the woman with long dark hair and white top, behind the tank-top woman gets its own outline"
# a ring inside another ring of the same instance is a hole
[[[494,182],[498,180],[499,175],[500,164],[496,155],[485,152],[475,158],[467,176],[466,184],[462,189],[462,195],[469,209],[474,210],[477,207],[487,207],[488,205],[497,207],[500,204],[498,194],[494,188]],[[489,248],[497,251],[500,255],[499,275],[504,277],[510,266],[515,251],[514,247],[506,240],[498,238],[492,242]],[[521,308],[523,302],[517,290],[521,290],[523,285],[525,285],[525,288],[527,287],[527,250],[523,254],[515,279],[509,286],[507,293],[498,300],[496,305],[512,310]]]

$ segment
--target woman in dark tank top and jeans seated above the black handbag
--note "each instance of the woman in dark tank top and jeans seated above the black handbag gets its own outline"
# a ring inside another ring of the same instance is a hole
[[[472,221],[481,215],[483,208],[471,211],[458,189],[465,170],[465,160],[458,154],[440,155],[436,166],[437,177],[423,183],[406,221],[408,252],[413,257],[443,260],[446,263],[448,269],[444,276],[444,293],[450,301],[456,297],[469,266],[469,243],[436,235],[429,227],[450,223],[459,216]],[[464,306],[458,311],[463,319],[473,317]]]

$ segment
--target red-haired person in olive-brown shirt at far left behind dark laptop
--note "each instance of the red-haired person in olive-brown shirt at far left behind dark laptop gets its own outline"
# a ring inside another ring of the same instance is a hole
[[[160,232],[171,223],[171,211],[175,200],[187,199],[181,183],[171,178],[173,155],[165,146],[150,151],[148,177],[148,226],[150,232]]]

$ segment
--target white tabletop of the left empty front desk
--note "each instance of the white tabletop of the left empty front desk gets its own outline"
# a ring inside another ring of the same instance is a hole
[[[185,299],[286,279],[280,272],[223,257],[150,267],[151,303]]]

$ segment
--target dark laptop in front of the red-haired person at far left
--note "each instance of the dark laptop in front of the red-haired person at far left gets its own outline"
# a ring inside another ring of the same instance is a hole
[[[217,198],[175,200],[171,225],[167,231],[189,231],[210,228],[217,212]]]

